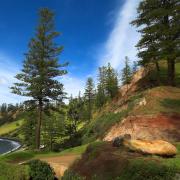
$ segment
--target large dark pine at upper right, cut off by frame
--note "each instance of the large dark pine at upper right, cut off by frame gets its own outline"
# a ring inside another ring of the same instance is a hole
[[[174,85],[175,60],[180,55],[180,2],[179,0],[142,0],[138,17],[132,22],[141,27],[141,40],[137,44],[142,63],[156,63],[166,59],[168,82]]]

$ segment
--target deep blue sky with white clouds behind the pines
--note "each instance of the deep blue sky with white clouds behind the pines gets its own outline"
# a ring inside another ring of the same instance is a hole
[[[68,74],[60,80],[74,96],[83,92],[85,80],[96,78],[97,67],[108,62],[117,71],[125,56],[136,59],[139,39],[129,22],[136,16],[140,0],[1,0],[0,4],[0,103],[23,98],[10,93],[34,36],[37,12],[48,7],[56,14],[57,42],[64,46],[60,63],[68,61]]]

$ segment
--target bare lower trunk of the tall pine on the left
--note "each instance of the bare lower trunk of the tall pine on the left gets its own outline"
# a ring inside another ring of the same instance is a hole
[[[42,100],[39,100],[38,105],[38,122],[36,127],[36,149],[40,149],[40,142],[41,142],[41,122],[42,122]]]

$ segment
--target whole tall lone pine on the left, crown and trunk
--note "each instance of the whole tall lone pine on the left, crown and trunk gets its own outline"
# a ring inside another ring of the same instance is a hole
[[[36,148],[40,148],[41,124],[43,108],[51,101],[61,101],[63,84],[55,78],[66,73],[61,70],[58,56],[63,50],[54,42],[59,33],[55,31],[54,14],[47,8],[39,12],[39,24],[35,37],[29,43],[29,50],[25,55],[23,69],[16,78],[20,81],[11,88],[12,92],[30,97],[28,103],[36,105],[38,118],[36,122]]]

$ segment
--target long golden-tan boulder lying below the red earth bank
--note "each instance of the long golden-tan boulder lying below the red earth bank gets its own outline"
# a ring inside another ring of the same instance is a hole
[[[124,146],[142,154],[154,154],[159,156],[175,156],[177,149],[174,145],[162,140],[125,140]]]

